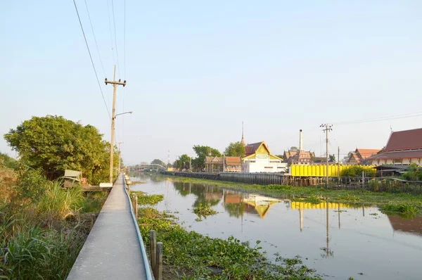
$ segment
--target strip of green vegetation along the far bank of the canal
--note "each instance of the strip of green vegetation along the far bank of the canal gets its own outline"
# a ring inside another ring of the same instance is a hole
[[[333,203],[347,203],[350,205],[376,205],[381,206],[381,210],[387,212],[402,212],[411,208],[412,215],[422,215],[422,195],[411,193],[385,193],[362,190],[326,190],[317,186],[283,186],[283,185],[257,185],[234,182],[215,181],[208,179],[196,179],[177,176],[157,175],[157,179],[170,178],[174,182],[210,184],[228,189],[257,191],[268,196],[277,198],[288,198],[291,200],[303,199],[314,201],[328,200]],[[404,207],[388,207],[385,205],[395,205]],[[410,205],[410,206],[409,206]],[[382,207],[385,206],[385,207]]]

